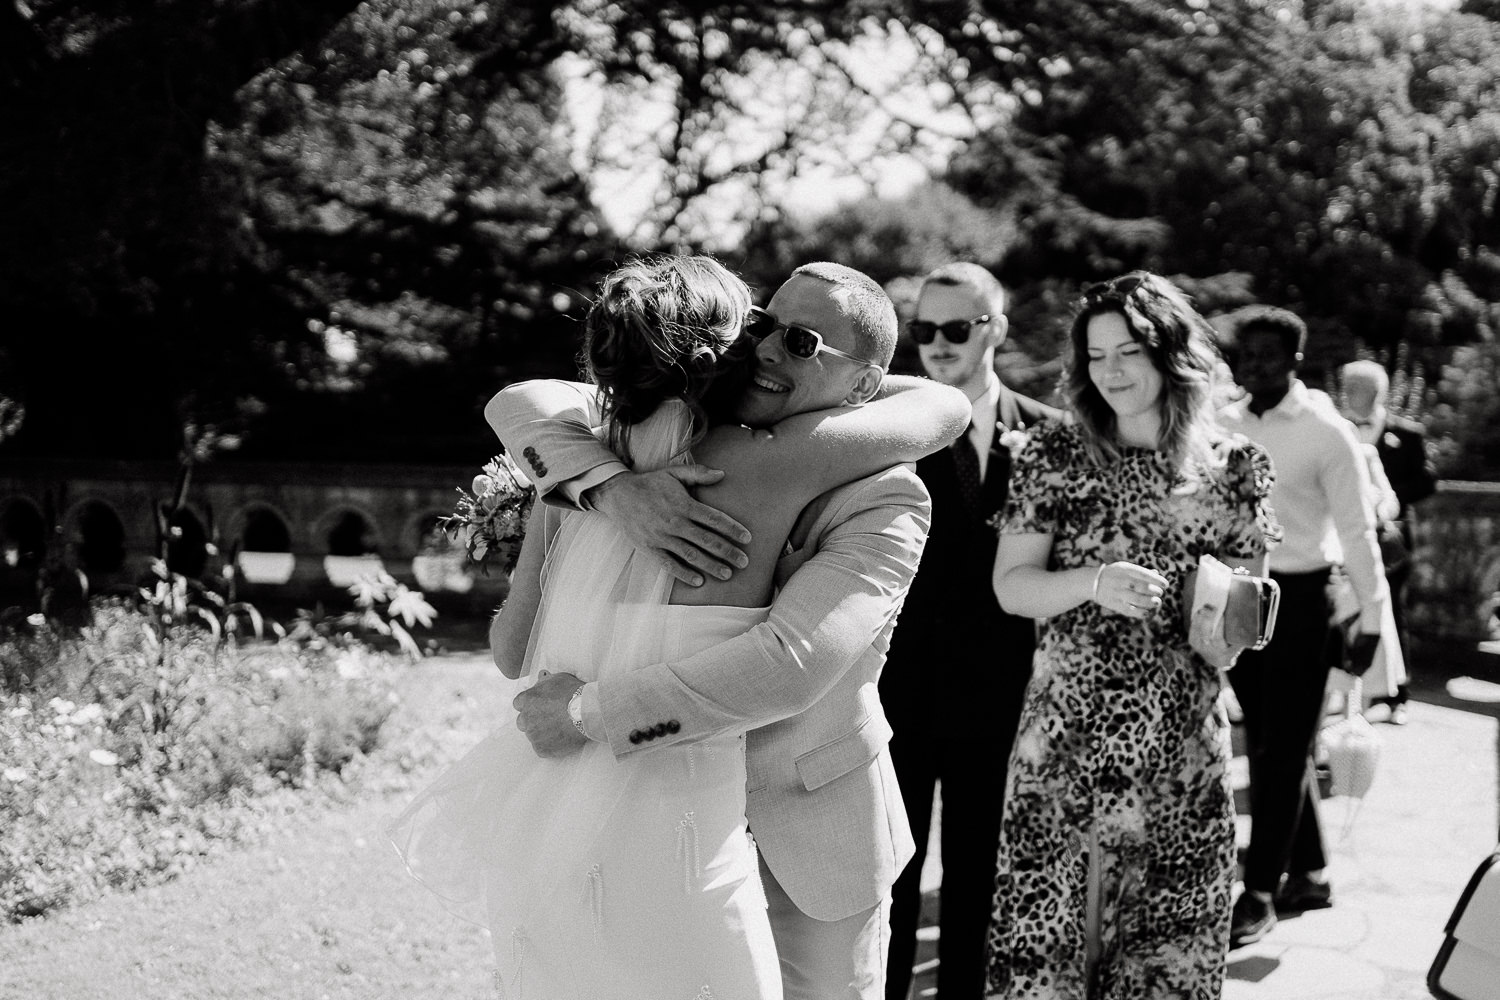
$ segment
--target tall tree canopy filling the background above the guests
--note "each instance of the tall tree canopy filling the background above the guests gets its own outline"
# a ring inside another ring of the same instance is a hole
[[[604,270],[710,249],[975,259],[1032,388],[1082,282],[1287,304],[1494,474],[1497,42],[1488,0],[0,0],[0,448],[472,457]]]

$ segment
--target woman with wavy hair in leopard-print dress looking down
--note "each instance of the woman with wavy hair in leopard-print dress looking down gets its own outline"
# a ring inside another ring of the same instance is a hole
[[[1188,645],[1198,556],[1264,571],[1270,462],[1214,424],[1208,322],[1166,279],[1084,292],[1074,421],[1035,429],[994,589],[1046,619],[1011,754],[988,996],[1220,997],[1234,877],[1221,676]]]

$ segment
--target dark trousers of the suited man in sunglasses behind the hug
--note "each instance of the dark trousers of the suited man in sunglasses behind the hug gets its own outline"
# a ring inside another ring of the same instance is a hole
[[[938,996],[978,1000],[984,996],[986,933],[994,903],[994,861],[1000,838],[1008,739],[957,741],[927,732],[891,739],[891,762],[906,801],[916,856],[891,888],[891,957],[886,1000],[906,1000],[916,957],[921,918],[922,861],[932,828],[933,787],[942,784],[942,886],[938,894]]]

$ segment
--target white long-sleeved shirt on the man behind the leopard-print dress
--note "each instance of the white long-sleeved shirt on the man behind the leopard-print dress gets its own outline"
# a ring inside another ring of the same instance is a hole
[[[1341,564],[1359,597],[1360,631],[1378,633],[1389,589],[1354,426],[1299,379],[1260,417],[1242,399],[1220,411],[1220,421],[1266,448],[1275,468],[1270,504],[1284,537],[1270,550],[1270,568],[1312,573]]]

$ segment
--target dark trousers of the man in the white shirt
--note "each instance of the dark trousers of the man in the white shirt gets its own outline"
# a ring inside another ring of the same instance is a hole
[[[1250,757],[1250,850],[1245,888],[1275,892],[1286,873],[1323,868],[1312,741],[1328,687],[1328,570],[1272,573],[1281,610],[1270,643],[1228,672],[1245,714]]]

